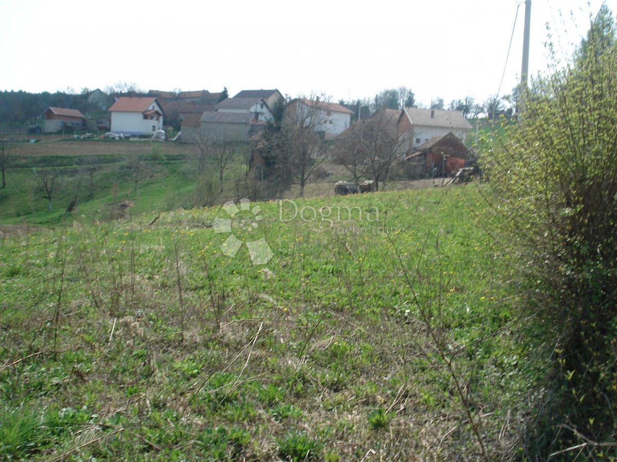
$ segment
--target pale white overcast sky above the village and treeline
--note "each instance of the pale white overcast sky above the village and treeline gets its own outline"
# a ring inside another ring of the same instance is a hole
[[[617,13],[617,0],[606,3]],[[547,67],[547,24],[567,57],[601,5],[532,0],[530,75]],[[499,91],[504,68],[500,95],[520,79],[524,10],[524,0],[0,0],[0,90],[125,81],[355,100],[406,86],[426,105],[482,102]]]

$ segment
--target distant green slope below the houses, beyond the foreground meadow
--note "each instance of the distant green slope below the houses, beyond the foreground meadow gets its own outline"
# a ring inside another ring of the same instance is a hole
[[[5,225],[107,221],[118,213],[124,214],[124,210],[114,208],[123,201],[131,204],[131,213],[141,214],[193,208],[204,205],[204,201],[223,204],[246,195],[238,195],[236,188],[237,175],[246,169],[242,149],[226,169],[222,188],[219,190],[217,185],[212,197],[207,198],[200,194],[193,144],[51,138],[15,144],[10,155],[7,187],[0,189],[0,224]],[[329,177],[307,184],[307,197],[334,195],[334,182],[348,179],[349,174],[341,166],[324,165]],[[44,179],[48,184],[54,180],[51,193]],[[389,182],[386,188],[433,187],[441,182],[396,181]],[[299,189],[292,185],[285,197],[297,197]],[[71,211],[67,211],[72,204]]]

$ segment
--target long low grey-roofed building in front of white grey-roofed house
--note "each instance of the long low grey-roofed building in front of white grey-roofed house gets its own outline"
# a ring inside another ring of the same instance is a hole
[[[205,111],[201,116],[187,114],[181,126],[182,140],[246,141],[265,126],[265,121],[258,120],[249,112]]]

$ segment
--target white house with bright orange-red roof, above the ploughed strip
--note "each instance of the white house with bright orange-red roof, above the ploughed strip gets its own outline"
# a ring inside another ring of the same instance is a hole
[[[111,131],[151,136],[163,129],[163,109],[156,98],[123,96],[109,108]]]

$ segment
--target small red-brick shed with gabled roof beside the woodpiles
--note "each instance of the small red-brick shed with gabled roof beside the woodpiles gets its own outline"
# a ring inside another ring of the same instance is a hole
[[[468,149],[453,132],[437,135],[405,157],[410,176],[446,176],[465,166]]]

